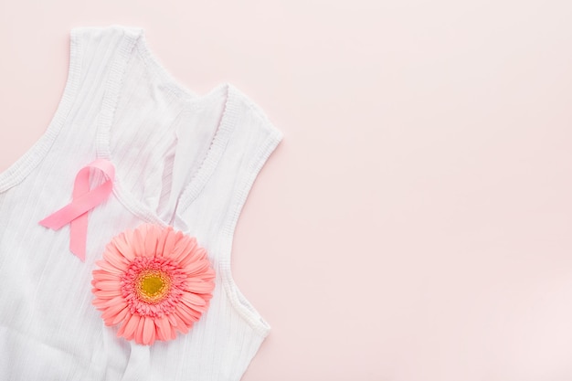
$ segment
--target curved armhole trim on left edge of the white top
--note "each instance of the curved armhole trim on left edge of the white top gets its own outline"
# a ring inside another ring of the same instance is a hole
[[[66,119],[71,111],[79,88],[79,75],[81,71],[81,41],[79,30],[71,29],[69,32],[69,67],[68,78],[51,121],[45,132],[39,137],[15,163],[0,172],[0,193],[21,183],[27,175],[44,159],[58,138]]]

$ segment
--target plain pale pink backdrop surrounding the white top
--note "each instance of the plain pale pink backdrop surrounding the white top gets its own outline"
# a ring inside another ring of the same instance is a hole
[[[234,271],[244,381],[572,379],[572,3],[0,2],[0,170],[45,131],[69,28],[143,26],[186,87],[285,133]]]

